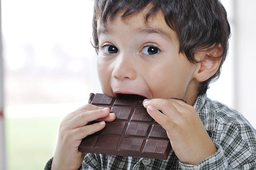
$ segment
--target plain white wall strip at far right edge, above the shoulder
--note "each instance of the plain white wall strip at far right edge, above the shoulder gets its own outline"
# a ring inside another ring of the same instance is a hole
[[[256,128],[256,1],[236,0],[236,96],[235,108]]]

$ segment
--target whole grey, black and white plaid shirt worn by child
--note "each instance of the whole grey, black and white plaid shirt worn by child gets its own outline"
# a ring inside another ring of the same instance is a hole
[[[206,94],[198,96],[194,108],[218,149],[198,165],[181,163],[173,150],[167,160],[150,159],[148,165],[139,157],[88,153],[79,170],[256,169],[256,130],[241,113],[211,101]],[[45,170],[51,169],[52,159],[46,163]]]

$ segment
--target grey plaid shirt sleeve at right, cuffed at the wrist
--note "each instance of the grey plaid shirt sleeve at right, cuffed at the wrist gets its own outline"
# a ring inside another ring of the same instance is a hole
[[[223,126],[220,131],[222,132],[214,139],[214,145],[217,148],[214,155],[204,159],[198,165],[187,165],[179,161],[181,169],[255,169],[255,129],[247,123],[233,121]]]

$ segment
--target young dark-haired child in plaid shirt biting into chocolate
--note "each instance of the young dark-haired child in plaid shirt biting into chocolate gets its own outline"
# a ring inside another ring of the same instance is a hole
[[[139,157],[79,152],[82,138],[115,119],[109,108],[86,104],[61,122],[54,157],[45,169],[256,169],[256,130],[240,113],[206,95],[228,51],[230,25],[220,1],[94,3],[102,92],[146,97],[143,105],[166,129],[172,151],[167,160],[147,163]],[[99,123],[87,125],[94,120]]]

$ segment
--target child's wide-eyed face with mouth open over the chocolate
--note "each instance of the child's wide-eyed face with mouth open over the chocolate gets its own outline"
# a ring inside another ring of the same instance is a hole
[[[152,98],[185,98],[198,85],[196,65],[179,53],[179,40],[162,14],[144,24],[143,11],[120,15],[106,27],[98,22],[98,77],[104,94],[138,94]],[[101,46],[104,46],[101,48]]]

